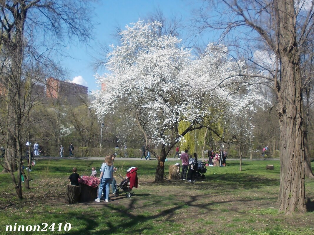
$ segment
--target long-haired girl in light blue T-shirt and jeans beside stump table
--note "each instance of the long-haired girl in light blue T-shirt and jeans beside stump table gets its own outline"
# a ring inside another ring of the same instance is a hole
[[[109,202],[109,189],[113,178],[112,156],[113,155],[107,155],[104,163],[100,167],[100,185],[98,189],[98,197],[95,199],[95,202],[100,202],[102,192],[106,197],[105,202]]]

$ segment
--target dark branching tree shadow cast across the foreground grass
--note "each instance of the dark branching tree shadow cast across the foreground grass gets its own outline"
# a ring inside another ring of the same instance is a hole
[[[140,196],[145,196],[146,194],[141,194]],[[160,230],[163,230],[165,233],[167,230],[169,232],[174,232],[174,227],[171,227],[171,224],[176,221],[176,214],[181,213],[181,210],[189,210],[187,208],[194,207],[194,210],[207,210],[208,212],[214,211],[211,208],[216,202],[201,203],[201,196],[191,197],[190,200],[183,203],[175,203],[171,208],[156,210],[159,203],[162,203],[162,199],[157,200],[158,202],[152,202],[155,205],[155,209],[151,212],[148,209],[151,205],[142,206],[139,209],[142,210],[143,214],[133,213],[134,205],[138,205],[138,201],[141,201],[142,197],[133,197],[130,198],[127,203],[124,204],[124,207],[117,207],[114,204],[104,204],[104,219],[100,220],[95,217],[87,217],[84,214],[77,215],[73,212],[69,213],[69,217],[75,217],[78,220],[78,224],[85,224],[84,228],[76,231],[69,231],[67,235],[76,235],[76,234],[157,234]],[[252,200],[238,200],[238,202],[249,202]],[[232,201],[221,201],[219,203],[230,203]],[[165,206],[165,205],[164,205]],[[161,207],[162,208],[162,207]],[[109,210],[112,218],[108,215],[106,216],[105,210]],[[146,212],[146,214],[145,214]],[[147,213],[149,212],[149,213]],[[116,216],[119,216],[119,221],[116,220]],[[159,223],[159,222],[160,223]],[[161,222],[162,221],[162,222]],[[184,223],[184,221],[182,221]],[[98,227],[100,225],[100,228]],[[101,228],[105,227],[105,228]],[[96,229],[97,231],[95,231]],[[144,232],[146,231],[146,232]]]

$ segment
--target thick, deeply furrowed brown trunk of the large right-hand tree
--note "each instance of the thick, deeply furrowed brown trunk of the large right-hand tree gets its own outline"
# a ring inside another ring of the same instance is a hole
[[[281,84],[277,94],[281,129],[279,211],[304,213],[303,103],[296,15],[293,0],[277,0],[277,4],[278,54],[281,59]]]

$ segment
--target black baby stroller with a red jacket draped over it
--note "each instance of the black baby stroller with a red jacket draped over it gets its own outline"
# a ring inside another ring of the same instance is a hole
[[[125,178],[118,174],[118,176],[122,178],[122,181],[120,184],[117,184],[117,189],[114,194],[114,197],[119,196],[119,193],[121,193],[119,192],[119,190],[125,192],[127,197],[131,197],[132,195],[134,196],[135,193],[132,191],[132,188],[138,187],[138,177],[136,172],[137,170],[138,170],[137,167],[134,168],[131,167],[129,170],[127,170],[127,176]]]

